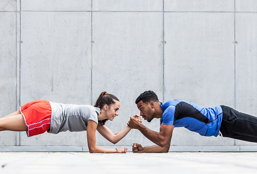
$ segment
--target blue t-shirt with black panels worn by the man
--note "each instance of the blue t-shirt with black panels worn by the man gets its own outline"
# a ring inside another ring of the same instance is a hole
[[[163,117],[161,124],[185,127],[190,131],[197,132],[202,136],[215,136],[219,134],[222,109],[203,108],[191,102],[170,100],[161,104]]]

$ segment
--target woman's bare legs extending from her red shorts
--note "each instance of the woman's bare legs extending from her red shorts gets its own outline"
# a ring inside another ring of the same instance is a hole
[[[28,127],[21,114],[10,114],[0,118],[0,131],[28,131]]]

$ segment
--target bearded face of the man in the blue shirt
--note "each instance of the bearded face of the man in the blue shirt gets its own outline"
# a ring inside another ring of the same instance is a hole
[[[140,115],[148,122],[150,122],[153,118],[155,118],[153,114],[154,112],[150,108],[149,104],[145,104],[142,101],[140,101],[138,102],[137,107],[140,111]]]

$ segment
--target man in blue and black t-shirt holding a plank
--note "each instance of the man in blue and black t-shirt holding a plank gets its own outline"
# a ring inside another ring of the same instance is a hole
[[[145,137],[157,145],[142,147],[133,144],[134,153],[164,153],[170,148],[174,127],[185,127],[202,136],[224,137],[244,141],[257,142],[257,117],[240,113],[227,106],[203,108],[182,100],[170,100],[161,103],[153,91],[145,91],[136,100],[140,115],[150,122],[160,118],[160,132],[151,131],[135,117],[131,117],[129,125],[138,129]]]

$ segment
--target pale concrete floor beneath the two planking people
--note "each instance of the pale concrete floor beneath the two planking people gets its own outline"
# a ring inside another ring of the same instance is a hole
[[[0,173],[256,173],[254,152],[1,152]]]

